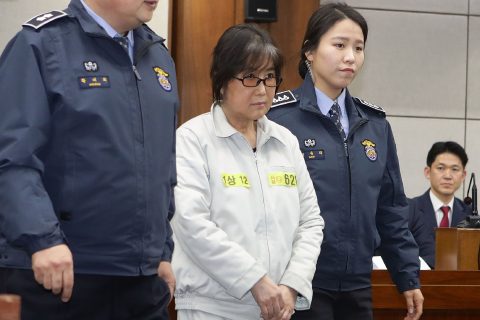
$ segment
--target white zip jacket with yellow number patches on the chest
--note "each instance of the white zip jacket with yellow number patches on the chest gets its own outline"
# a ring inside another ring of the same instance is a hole
[[[309,308],[324,224],[290,131],[262,117],[254,153],[213,105],[177,130],[177,180],[177,309],[258,319],[250,289],[266,274]]]

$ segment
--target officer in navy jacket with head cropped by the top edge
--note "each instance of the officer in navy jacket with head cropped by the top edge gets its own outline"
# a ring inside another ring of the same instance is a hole
[[[24,320],[168,318],[178,95],[156,6],[72,0],[1,56],[0,278]]]

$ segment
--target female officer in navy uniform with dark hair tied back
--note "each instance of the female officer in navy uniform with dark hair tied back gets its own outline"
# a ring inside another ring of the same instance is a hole
[[[408,230],[407,200],[385,112],[347,86],[364,61],[368,27],[346,4],[311,16],[301,49],[300,88],[277,94],[268,117],[300,142],[325,219],[324,242],[308,311],[292,319],[372,319],[372,255],[383,258],[407,303],[422,314],[418,248]]]

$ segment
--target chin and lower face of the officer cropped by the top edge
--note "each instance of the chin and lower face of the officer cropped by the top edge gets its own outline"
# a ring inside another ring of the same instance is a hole
[[[87,0],[117,32],[125,33],[152,19],[158,0]]]

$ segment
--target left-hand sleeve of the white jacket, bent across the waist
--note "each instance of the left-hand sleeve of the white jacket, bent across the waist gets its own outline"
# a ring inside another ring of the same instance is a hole
[[[240,299],[267,272],[210,218],[209,168],[198,137],[177,130],[176,245],[228,294]]]

